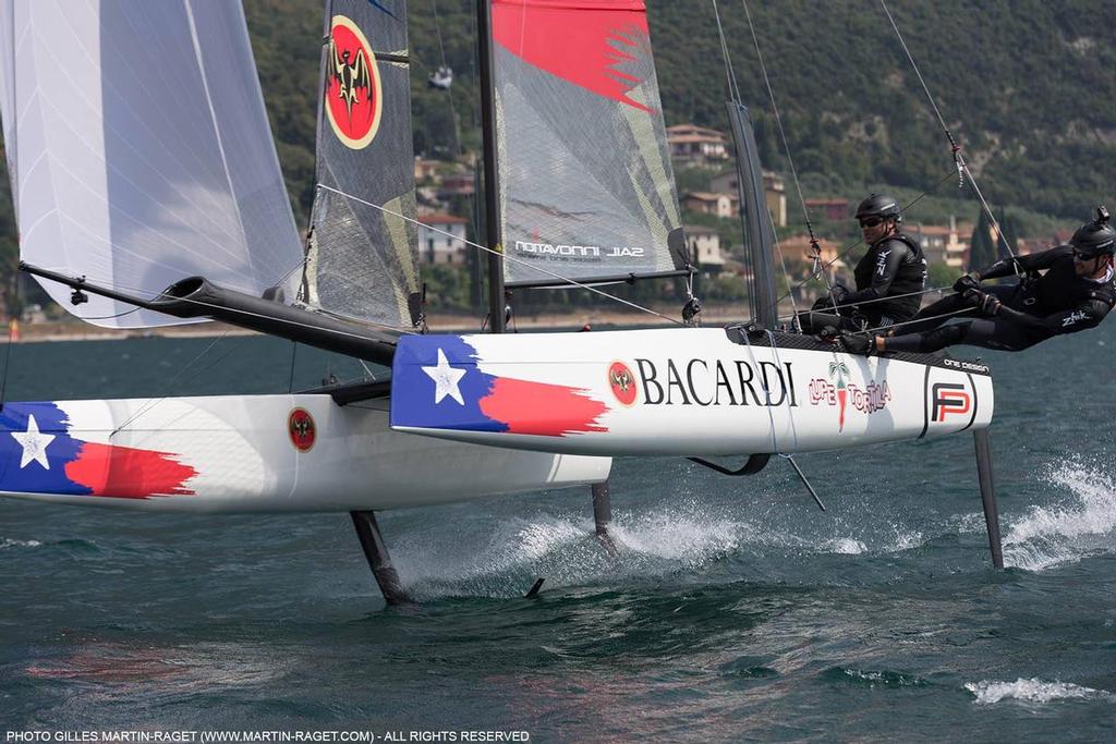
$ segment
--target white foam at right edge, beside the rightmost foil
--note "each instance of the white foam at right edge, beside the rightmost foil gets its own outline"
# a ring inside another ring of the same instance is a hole
[[[1046,481],[1069,492],[1062,505],[1031,506],[1003,537],[1004,563],[1030,571],[1116,549],[1116,482],[1097,467],[1051,465]]]

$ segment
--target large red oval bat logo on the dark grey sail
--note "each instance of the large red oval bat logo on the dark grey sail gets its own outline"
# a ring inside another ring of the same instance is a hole
[[[363,149],[376,136],[383,113],[376,56],[360,29],[345,16],[333,17],[326,55],[326,118],[347,147]]]

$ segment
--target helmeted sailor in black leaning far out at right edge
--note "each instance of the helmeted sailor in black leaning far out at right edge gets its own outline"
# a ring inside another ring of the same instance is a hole
[[[845,348],[873,351],[937,351],[968,344],[1021,351],[1054,336],[1094,328],[1116,303],[1113,252],[1116,230],[1108,211],[1081,225],[1069,244],[1012,257],[956,281],[956,294],[926,307],[904,335],[845,334]],[[1039,276],[1039,271],[1046,271]],[[1016,284],[987,286],[984,279],[1021,274]],[[944,325],[953,318],[973,318]],[[894,331],[893,331],[894,332]]]

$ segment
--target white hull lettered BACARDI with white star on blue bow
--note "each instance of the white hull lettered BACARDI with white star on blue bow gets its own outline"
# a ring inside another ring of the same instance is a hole
[[[992,421],[984,365],[835,348],[722,329],[406,337],[392,426],[574,454],[739,455],[940,436]]]

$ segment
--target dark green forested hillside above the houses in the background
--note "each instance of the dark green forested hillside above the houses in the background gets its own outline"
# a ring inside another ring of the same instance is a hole
[[[473,0],[413,0],[416,152],[475,147]],[[667,124],[725,127],[725,75],[711,0],[648,0]],[[744,103],[766,164],[786,172],[743,6],[721,0]],[[985,195],[1067,220],[1112,201],[1116,19],[1105,2],[893,0],[889,9]],[[257,61],[292,194],[312,177],[321,11],[309,0],[246,0]],[[749,9],[807,197],[892,184],[922,191],[952,167],[949,143],[875,0],[779,0]],[[451,96],[425,86],[443,59]],[[462,141],[459,144],[459,136]]]

